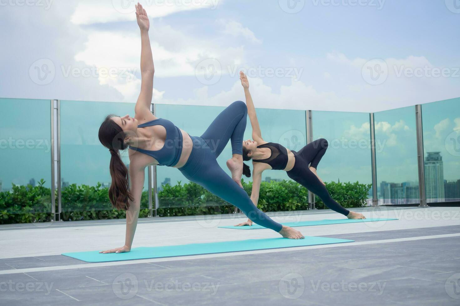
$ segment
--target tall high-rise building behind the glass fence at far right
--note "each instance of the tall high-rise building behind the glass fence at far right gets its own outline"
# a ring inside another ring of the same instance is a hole
[[[438,202],[445,198],[444,165],[441,152],[427,152],[425,157],[426,201]]]

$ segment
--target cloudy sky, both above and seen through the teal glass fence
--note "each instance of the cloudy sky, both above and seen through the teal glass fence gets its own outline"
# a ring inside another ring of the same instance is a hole
[[[157,116],[199,136],[224,106],[244,100],[237,77],[243,70],[265,140],[299,150],[304,110],[313,110],[314,139],[335,144],[318,174],[366,184],[370,151],[341,139],[368,142],[368,113],[375,112],[378,184],[417,181],[414,105],[423,104],[426,152],[441,151],[444,177],[458,179],[460,100],[447,100],[460,97],[457,2],[141,1],[150,17],[152,102],[159,104]],[[0,150],[9,161],[3,187],[32,177],[49,181],[49,99],[61,100],[62,177],[70,184],[108,182],[110,156],[96,135],[106,114],[134,115],[140,89],[134,2],[0,6],[0,103],[10,115],[0,124],[0,140],[32,139],[35,146]],[[223,167],[227,151],[219,157]],[[276,171],[265,176],[286,178]],[[166,177],[185,182],[177,170],[160,167],[159,182]]]

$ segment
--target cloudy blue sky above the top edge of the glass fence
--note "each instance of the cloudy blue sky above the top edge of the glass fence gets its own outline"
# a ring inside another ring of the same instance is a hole
[[[374,112],[460,96],[458,0],[145,0],[154,103]],[[0,97],[135,103],[129,0],[1,2]]]

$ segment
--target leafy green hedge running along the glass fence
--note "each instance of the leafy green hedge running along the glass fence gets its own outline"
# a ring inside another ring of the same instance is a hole
[[[44,187],[40,180],[37,186],[12,186],[11,191],[0,192],[0,224],[31,223],[49,221],[51,211],[51,189]],[[243,187],[251,194],[252,182],[242,181]],[[371,184],[335,183],[326,187],[331,196],[345,208],[366,205]],[[101,184],[88,186],[72,184],[62,189],[62,216],[64,221],[99,220],[125,218],[125,211],[114,210],[109,202],[108,188]],[[56,194],[57,196],[57,194]],[[160,217],[191,216],[231,213],[234,206],[211,194],[198,184],[169,184],[162,186],[158,193]],[[258,207],[262,211],[294,211],[308,209],[308,190],[293,181],[262,182]],[[327,208],[316,196],[316,208]],[[148,193],[141,197],[139,217],[147,217]]]

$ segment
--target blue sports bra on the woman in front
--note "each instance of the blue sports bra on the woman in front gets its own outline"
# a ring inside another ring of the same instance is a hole
[[[150,127],[153,125],[161,125],[166,129],[165,144],[160,150],[144,150],[131,145],[129,148],[152,156],[159,162],[159,166],[175,166],[180,159],[180,154],[182,153],[182,133],[180,129],[176,127],[173,122],[163,118],[157,118],[152,121],[139,124],[138,128]]]

